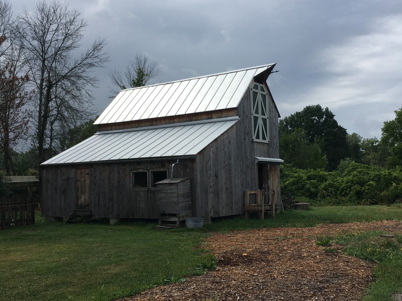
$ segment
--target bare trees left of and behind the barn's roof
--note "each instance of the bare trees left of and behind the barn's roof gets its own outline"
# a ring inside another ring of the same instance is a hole
[[[36,173],[40,163],[95,132],[93,71],[109,55],[102,37],[82,49],[86,27],[78,11],[57,0],[18,15],[0,0],[0,171],[7,175]],[[111,93],[157,74],[156,61],[137,55],[124,72],[110,72],[117,87]]]

